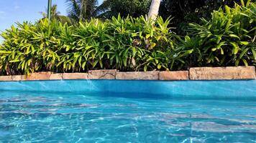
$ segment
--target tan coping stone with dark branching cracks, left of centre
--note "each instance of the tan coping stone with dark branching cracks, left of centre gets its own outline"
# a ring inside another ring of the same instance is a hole
[[[88,71],[88,79],[116,79],[116,69]]]

